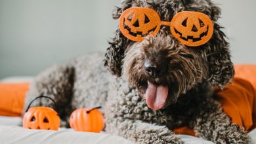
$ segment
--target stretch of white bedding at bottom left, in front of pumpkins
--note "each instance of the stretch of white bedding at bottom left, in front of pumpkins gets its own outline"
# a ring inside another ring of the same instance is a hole
[[[132,143],[116,135],[74,132],[68,129],[58,131],[28,130],[20,126],[0,126],[0,133],[0,143]]]

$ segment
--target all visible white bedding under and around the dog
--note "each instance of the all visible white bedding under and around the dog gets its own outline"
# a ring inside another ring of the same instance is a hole
[[[32,77],[10,77],[0,82],[30,82]],[[52,130],[28,130],[20,126],[20,117],[0,116],[0,144],[8,143],[89,143],[89,144],[129,144],[132,143],[123,137],[109,134],[96,134],[89,132],[74,132],[72,129],[60,128],[58,131]],[[256,129],[249,133],[252,143],[256,144]],[[186,144],[212,144],[198,137],[190,135],[177,135]]]

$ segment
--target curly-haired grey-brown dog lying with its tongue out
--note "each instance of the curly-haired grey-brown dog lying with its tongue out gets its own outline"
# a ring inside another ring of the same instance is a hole
[[[228,43],[217,24],[219,7],[210,0],[125,0],[113,17],[130,7],[154,9],[162,21],[184,10],[203,12],[215,22],[213,37],[189,47],[169,27],[142,42],[130,41],[117,29],[104,63],[95,54],[48,69],[33,82],[27,103],[41,93],[51,96],[64,122],[76,108],[102,105],[106,132],[137,143],[182,143],[171,132],[181,126],[215,143],[249,143],[243,128],[232,124],[213,98],[213,86],[224,86],[234,75]],[[148,96],[161,96],[161,90],[167,99]],[[44,99],[39,103],[51,105]]]

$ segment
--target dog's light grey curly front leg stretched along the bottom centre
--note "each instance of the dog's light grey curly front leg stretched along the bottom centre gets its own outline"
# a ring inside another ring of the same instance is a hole
[[[123,118],[111,118],[107,121],[106,132],[120,135],[135,143],[183,143],[166,126]]]

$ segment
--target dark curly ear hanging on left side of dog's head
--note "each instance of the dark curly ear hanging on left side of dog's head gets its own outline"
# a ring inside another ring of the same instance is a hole
[[[120,77],[127,38],[123,36],[119,29],[117,29],[116,37],[114,37],[114,39],[108,43],[110,44],[110,47],[108,47],[106,50],[104,65],[108,68],[112,75]]]

